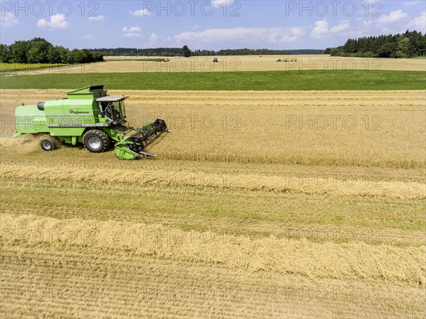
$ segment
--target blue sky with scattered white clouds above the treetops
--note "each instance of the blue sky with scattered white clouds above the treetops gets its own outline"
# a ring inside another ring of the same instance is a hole
[[[426,32],[426,1],[0,1],[0,42],[66,48],[327,48]]]

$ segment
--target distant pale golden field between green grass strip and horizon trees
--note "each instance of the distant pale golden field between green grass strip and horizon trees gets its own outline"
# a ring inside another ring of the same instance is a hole
[[[217,57],[166,58],[105,57],[105,62],[68,65],[43,70],[27,70],[17,74],[104,73],[104,72],[230,72],[230,71],[307,71],[307,70],[426,70],[426,59],[345,58],[330,55],[225,55]],[[217,58],[218,63],[213,63]],[[282,62],[277,62],[278,60]],[[288,62],[284,62],[288,60]]]

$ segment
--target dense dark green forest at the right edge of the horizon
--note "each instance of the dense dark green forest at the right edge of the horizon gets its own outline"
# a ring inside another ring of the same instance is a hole
[[[426,54],[426,34],[406,31],[389,36],[349,39],[343,46],[327,48],[332,56],[363,58],[415,58]]]

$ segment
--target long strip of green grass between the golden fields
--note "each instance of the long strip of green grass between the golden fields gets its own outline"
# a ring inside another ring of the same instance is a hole
[[[426,72],[259,71],[0,75],[2,89],[69,89],[105,84],[114,90],[426,90]]]

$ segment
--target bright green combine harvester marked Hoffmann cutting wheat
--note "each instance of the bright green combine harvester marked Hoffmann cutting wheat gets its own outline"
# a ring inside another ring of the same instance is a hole
[[[53,151],[58,141],[82,143],[93,153],[101,153],[114,144],[116,156],[122,159],[155,157],[144,149],[168,128],[165,121],[148,121],[141,129],[126,126],[124,101],[129,96],[109,96],[104,85],[92,85],[67,93],[65,99],[38,102],[16,107],[16,133],[47,133],[40,146]]]

